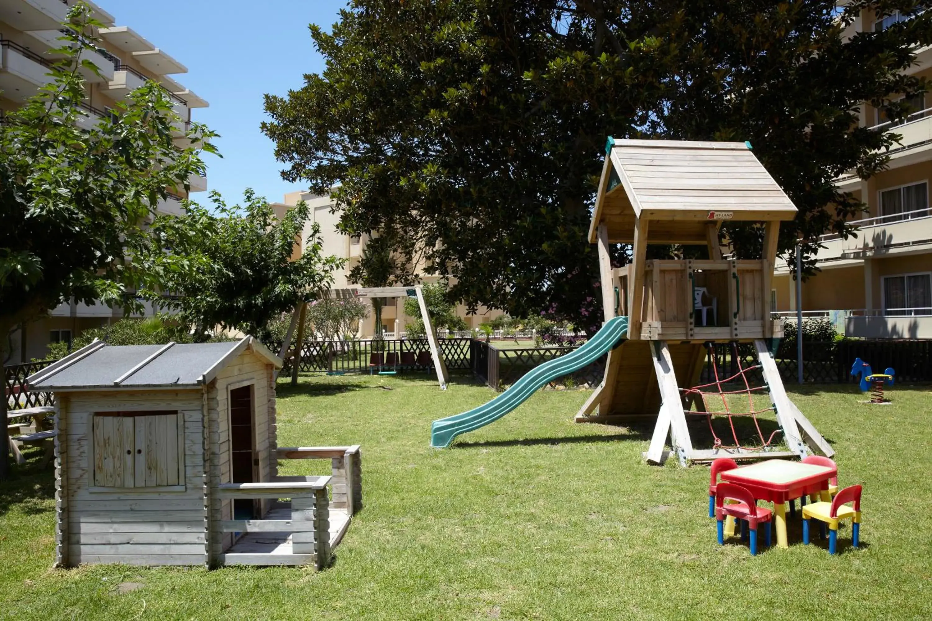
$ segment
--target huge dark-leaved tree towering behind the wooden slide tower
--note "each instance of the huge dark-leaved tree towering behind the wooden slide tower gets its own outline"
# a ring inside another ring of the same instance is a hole
[[[932,43],[932,13],[843,36],[856,0],[353,0],[332,33],[311,25],[326,68],[264,124],[291,181],[336,183],[350,235],[391,231],[455,277],[450,295],[513,316],[592,295],[585,239],[606,138],[749,141],[800,208],[782,227],[847,233],[861,206],[832,180],[884,166],[889,134],[857,128],[862,101],[904,115],[900,74]],[[829,209],[825,209],[829,206]],[[739,256],[762,233],[730,223]],[[623,256],[619,256],[624,261]],[[413,263],[413,262],[409,262]],[[596,296],[598,297],[598,296]]]

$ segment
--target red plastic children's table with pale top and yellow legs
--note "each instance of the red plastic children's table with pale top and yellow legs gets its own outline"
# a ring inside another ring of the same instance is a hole
[[[833,467],[768,459],[725,470],[720,477],[746,487],[757,500],[774,503],[776,545],[788,547],[787,502],[811,494],[819,494],[822,500],[829,501],[829,479],[837,474],[838,470]]]

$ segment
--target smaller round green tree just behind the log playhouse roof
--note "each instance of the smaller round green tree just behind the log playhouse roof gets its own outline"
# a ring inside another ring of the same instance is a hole
[[[310,215],[303,201],[278,220],[252,190],[243,207],[227,207],[215,192],[211,198],[211,210],[188,203],[182,215],[156,218],[152,231],[170,251],[145,257],[160,283],[145,295],[177,310],[178,319],[199,333],[219,326],[266,339],[273,319],[330,289],[343,260],[323,256],[317,223],[293,260]]]

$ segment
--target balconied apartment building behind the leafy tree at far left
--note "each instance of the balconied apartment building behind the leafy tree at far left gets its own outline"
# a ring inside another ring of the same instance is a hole
[[[0,114],[15,110],[38,88],[51,81],[48,67],[55,57],[49,49],[61,47],[62,42],[58,41],[62,35],[61,24],[69,6],[74,3],[75,0],[0,0]],[[103,8],[88,4],[93,8],[94,17],[105,27],[98,33],[100,47],[89,56],[82,57],[97,65],[100,75],[82,70],[87,80],[87,99],[81,106],[85,116],[79,125],[92,127],[104,116],[112,114],[118,101],[126,99],[146,80],[153,80],[168,92],[174,110],[181,118],[177,124],[180,143],[190,126],[192,110],[208,106],[207,101],[171,77],[185,74],[185,65],[129,26],[117,26],[114,17]],[[207,180],[203,177],[193,177],[190,184],[191,192],[207,189]],[[168,200],[161,201],[158,210],[180,213],[181,201],[185,198],[184,192],[170,196]],[[152,312],[151,305],[147,305],[146,314],[151,315]],[[42,358],[48,343],[70,343],[78,332],[106,325],[122,315],[121,310],[104,304],[62,304],[52,310],[49,317],[29,322],[10,335],[13,349],[10,361]]]

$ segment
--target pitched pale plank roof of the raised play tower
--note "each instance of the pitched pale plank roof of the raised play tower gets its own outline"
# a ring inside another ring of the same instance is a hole
[[[613,140],[599,182],[589,241],[631,243],[635,220],[648,243],[705,244],[706,223],[792,220],[796,207],[747,142]]]

